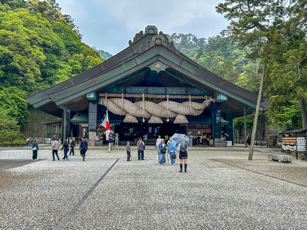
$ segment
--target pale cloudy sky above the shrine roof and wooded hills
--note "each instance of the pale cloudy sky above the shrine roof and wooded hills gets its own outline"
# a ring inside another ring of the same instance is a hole
[[[220,0],[57,0],[83,34],[83,42],[116,54],[147,25],[163,33],[192,33],[198,38],[216,36],[228,25],[215,12]]]

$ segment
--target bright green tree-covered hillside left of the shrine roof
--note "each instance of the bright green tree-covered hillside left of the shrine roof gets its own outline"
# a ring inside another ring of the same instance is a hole
[[[73,18],[61,14],[55,0],[0,0],[0,108],[5,119],[25,125],[25,96],[102,62],[81,39]]]

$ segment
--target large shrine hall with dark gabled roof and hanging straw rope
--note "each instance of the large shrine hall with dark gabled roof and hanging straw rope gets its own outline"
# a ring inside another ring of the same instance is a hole
[[[59,117],[47,124],[46,136],[52,138],[56,130],[60,144],[81,143],[87,135],[89,147],[103,146],[101,121],[108,110],[116,144],[129,141],[131,148],[138,148],[145,135],[148,146],[158,147],[159,136],[174,133],[191,137],[201,148],[225,141],[222,133],[233,144],[233,118],[254,113],[257,98],[183,55],[155,25],[99,65],[26,97],[34,108]],[[260,111],[269,103],[262,97]],[[113,139],[107,136],[109,151]]]

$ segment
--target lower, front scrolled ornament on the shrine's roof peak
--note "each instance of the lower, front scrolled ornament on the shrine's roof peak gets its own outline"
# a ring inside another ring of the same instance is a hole
[[[140,54],[154,45],[163,45],[176,54],[180,53],[180,51],[175,48],[173,41],[170,42],[166,34],[164,34],[162,31],[159,32],[159,35],[153,36],[151,41],[148,40],[144,42],[142,46],[136,50],[136,52]]]

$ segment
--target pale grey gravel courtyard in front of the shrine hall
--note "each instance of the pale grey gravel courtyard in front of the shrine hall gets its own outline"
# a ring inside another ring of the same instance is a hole
[[[89,150],[84,162],[79,151],[51,161],[40,150],[45,160],[0,170],[0,229],[307,229],[305,161],[190,151],[188,172],[179,173],[179,160],[136,155],[127,162],[125,151]],[[31,158],[29,150],[0,152]]]

